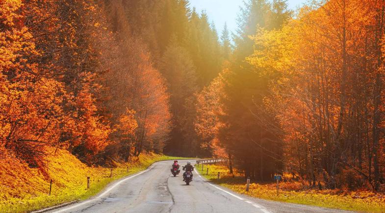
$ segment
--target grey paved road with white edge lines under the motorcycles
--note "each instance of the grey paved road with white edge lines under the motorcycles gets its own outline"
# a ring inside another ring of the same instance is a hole
[[[256,199],[206,182],[194,171],[189,186],[173,177],[172,161],[110,184],[99,195],[55,213],[339,213],[332,209]],[[185,161],[180,161],[181,165]]]

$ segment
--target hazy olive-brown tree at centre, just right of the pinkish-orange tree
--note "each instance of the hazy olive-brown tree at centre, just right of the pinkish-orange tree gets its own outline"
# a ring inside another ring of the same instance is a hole
[[[175,43],[176,36],[171,43]],[[197,75],[195,66],[188,52],[181,46],[170,45],[164,53],[160,71],[168,83],[171,113],[173,114],[173,129],[165,151],[180,155],[193,155],[191,150],[196,136],[193,128],[195,118],[194,93],[197,91]],[[189,153],[184,153],[189,149]]]

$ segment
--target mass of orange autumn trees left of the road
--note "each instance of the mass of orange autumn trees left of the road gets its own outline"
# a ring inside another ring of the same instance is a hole
[[[119,46],[106,19],[91,0],[0,2],[1,148],[30,166],[48,147],[90,164],[116,156],[108,147],[121,141],[135,141],[136,155],[162,150],[171,117],[164,80],[144,45],[127,35]],[[118,103],[100,101],[115,95],[111,87],[123,90]],[[130,149],[119,149],[127,159]]]

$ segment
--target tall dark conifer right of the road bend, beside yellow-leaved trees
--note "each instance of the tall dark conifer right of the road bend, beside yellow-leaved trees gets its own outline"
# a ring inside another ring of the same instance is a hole
[[[226,113],[219,117],[226,125],[219,128],[217,136],[221,146],[239,160],[236,166],[245,170],[245,175],[256,174],[260,180],[282,169],[282,162],[276,158],[282,153],[282,147],[276,132],[267,127],[267,124],[276,124],[275,115],[264,109],[269,76],[263,76],[264,70],[249,64],[245,58],[254,52],[254,43],[249,37],[258,35],[262,28],[274,28],[275,21],[269,17],[272,10],[265,0],[249,0],[241,11],[224,85],[226,98],[222,104]]]

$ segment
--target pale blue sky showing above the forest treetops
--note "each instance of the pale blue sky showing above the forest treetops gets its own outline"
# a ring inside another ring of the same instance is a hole
[[[287,0],[290,9],[296,9],[306,0]],[[205,10],[208,18],[214,21],[218,33],[222,32],[225,22],[229,30],[235,33],[236,18],[239,12],[239,6],[243,5],[243,0],[190,0],[190,7],[195,7],[197,12]]]

